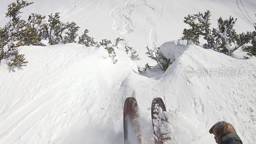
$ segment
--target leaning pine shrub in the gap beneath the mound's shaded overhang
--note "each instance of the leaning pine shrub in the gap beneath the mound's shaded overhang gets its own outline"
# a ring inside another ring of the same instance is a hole
[[[148,52],[146,52],[146,54],[149,55],[148,57],[152,60],[155,60],[163,71],[166,71],[169,65],[172,64],[171,59],[167,59],[163,56],[162,52],[160,51],[160,47],[156,48],[156,52],[153,50],[149,50],[148,46],[146,48],[148,50]]]

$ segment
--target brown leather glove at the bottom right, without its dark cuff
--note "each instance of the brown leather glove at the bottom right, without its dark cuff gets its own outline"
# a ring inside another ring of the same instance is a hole
[[[219,138],[228,133],[236,133],[235,128],[232,124],[225,121],[220,121],[212,126],[209,132],[214,134],[214,139],[218,143]]]

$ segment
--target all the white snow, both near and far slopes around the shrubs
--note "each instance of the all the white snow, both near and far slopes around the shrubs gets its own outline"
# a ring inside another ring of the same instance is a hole
[[[4,17],[9,3],[1,2],[1,27],[9,21]],[[247,52],[241,50],[230,57],[186,41],[170,41],[188,28],[185,16],[206,9],[212,12],[214,28],[220,16],[232,15],[238,18],[237,33],[252,31],[255,5],[255,0],[34,0],[24,8],[22,19],[30,13],[60,12],[61,20],[74,20],[80,34],[88,28],[96,41],[124,38],[142,60],[132,61],[115,49],[113,64],[100,44],[49,46],[43,40],[44,47],[20,47],[26,66],[9,68],[8,60],[0,65],[0,143],[123,143],[124,100],[131,96],[139,106],[142,143],[154,143],[151,102],[156,97],[166,104],[170,143],[214,144],[208,131],[221,120],[235,127],[243,143],[256,143],[256,57],[245,60]],[[166,72],[147,57],[147,45],[160,47],[171,59]],[[139,73],[137,65],[146,63],[156,66]],[[208,75],[212,68],[243,68],[244,73]],[[200,69],[207,75],[196,75]]]

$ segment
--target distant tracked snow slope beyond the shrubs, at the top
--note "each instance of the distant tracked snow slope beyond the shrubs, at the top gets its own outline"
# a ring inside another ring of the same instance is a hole
[[[7,5],[16,0],[0,2],[0,26],[5,18]],[[96,41],[103,38],[112,42],[117,37],[124,38],[142,60],[137,65],[155,65],[145,53],[146,46],[159,47],[164,42],[178,40],[184,28],[183,20],[188,14],[212,12],[212,27],[217,27],[217,19],[227,19],[232,15],[237,19],[237,33],[253,31],[255,0],[28,0],[34,2],[23,9],[22,18],[27,20],[30,13],[48,15],[60,12],[61,20],[75,21],[81,28],[90,30],[89,35]],[[47,18],[46,18],[47,19]]]

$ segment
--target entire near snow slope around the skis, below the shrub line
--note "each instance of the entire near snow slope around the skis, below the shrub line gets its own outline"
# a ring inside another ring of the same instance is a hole
[[[0,143],[123,143],[123,105],[138,101],[143,143],[153,143],[151,101],[170,109],[172,140],[212,143],[209,128],[232,123],[244,143],[256,142],[256,58],[238,60],[182,41],[161,50],[175,59],[164,74],[148,78],[116,49],[117,63],[100,47],[78,44],[24,46],[22,69],[0,66]],[[168,50],[168,51],[167,51]],[[191,76],[187,67],[244,68],[243,76]]]

